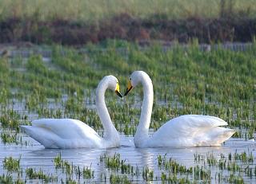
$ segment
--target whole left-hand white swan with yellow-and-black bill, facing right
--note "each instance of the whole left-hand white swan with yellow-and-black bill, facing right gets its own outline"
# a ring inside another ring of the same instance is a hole
[[[32,126],[21,126],[26,134],[46,148],[106,148],[118,147],[120,138],[110,119],[105,104],[105,92],[110,88],[122,97],[118,80],[114,76],[105,76],[96,90],[96,107],[104,128],[104,137],[94,129],[77,119],[36,119]]]

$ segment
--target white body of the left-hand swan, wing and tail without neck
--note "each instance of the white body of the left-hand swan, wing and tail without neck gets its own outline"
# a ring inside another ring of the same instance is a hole
[[[32,121],[32,126],[21,127],[46,148],[102,146],[102,137],[76,119],[36,119]]]

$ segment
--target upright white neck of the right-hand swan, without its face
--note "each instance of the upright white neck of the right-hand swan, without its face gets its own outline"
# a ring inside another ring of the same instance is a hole
[[[148,139],[151,112],[153,107],[153,84],[150,76],[140,76],[140,82],[143,86],[143,102],[142,102],[142,113],[139,119],[137,131],[134,135],[134,144],[136,147],[142,146],[143,142]]]

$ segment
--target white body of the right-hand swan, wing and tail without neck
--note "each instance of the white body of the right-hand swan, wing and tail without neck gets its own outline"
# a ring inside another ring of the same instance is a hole
[[[162,125],[144,147],[219,146],[235,132],[218,127],[224,125],[224,120],[214,116],[182,115]]]

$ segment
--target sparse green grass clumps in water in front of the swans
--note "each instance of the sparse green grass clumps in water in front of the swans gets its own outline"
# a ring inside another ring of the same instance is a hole
[[[63,161],[61,154],[58,154],[52,166],[57,166],[56,172],[46,173],[42,168],[27,167],[22,170],[19,159],[12,157],[5,158],[3,161],[4,169],[8,170],[7,174],[0,175],[2,183],[26,183],[34,182],[107,182],[110,183],[133,183],[133,182],[167,182],[167,183],[208,183],[208,182],[230,182],[230,183],[244,183],[242,176],[254,179],[256,177],[256,166],[250,161],[251,153],[244,152],[238,154],[228,155],[214,155],[214,153],[206,153],[204,155],[194,154],[194,166],[185,166],[177,162],[175,159],[167,158],[166,155],[158,155],[158,170],[149,168],[147,165],[140,166],[134,172],[123,173],[122,170],[115,170],[123,165],[123,160],[120,155],[115,153],[113,156],[104,155],[99,158],[100,163],[104,162],[106,170],[101,172],[100,178],[94,180],[94,170],[89,167],[83,167],[81,170],[79,166],[73,163]],[[244,158],[244,160],[242,159]],[[240,160],[243,164],[239,163]],[[249,165],[247,164],[249,161]],[[98,163],[98,164],[100,164]],[[118,163],[118,164],[117,164]],[[109,166],[108,166],[109,165]],[[111,166],[110,166],[111,165]],[[127,163],[126,165],[129,165]],[[134,166],[131,166],[134,168]],[[115,168],[115,169],[114,169]],[[214,172],[212,172],[214,170]],[[217,172],[215,172],[218,170]],[[60,173],[66,173],[66,178],[62,178]],[[18,178],[13,173],[18,174]],[[214,174],[215,176],[214,176]],[[25,176],[25,180],[22,177]],[[107,175],[107,178],[106,178]],[[82,180],[82,178],[84,180]],[[253,180],[252,180],[253,181]]]

